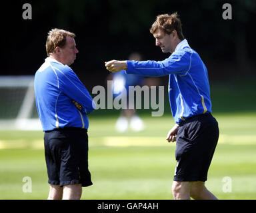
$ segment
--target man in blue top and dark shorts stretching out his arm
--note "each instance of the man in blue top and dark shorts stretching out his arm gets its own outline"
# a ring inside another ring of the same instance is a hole
[[[205,187],[207,172],[219,138],[218,123],[211,115],[207,68],[184,38],[177,13],[158,15],[150,32],[155,45],[171,55],[163,61],[105,62],[107,70],[148,77],[169,75],[169,102],[175,125],[167,141],[176,141],[177,166],[174,199],[217,199]]]

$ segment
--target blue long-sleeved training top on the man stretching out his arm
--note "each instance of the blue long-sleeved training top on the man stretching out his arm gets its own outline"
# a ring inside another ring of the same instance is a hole
[[[186,39],[164,61],[127,61],[126,73],[149,77],[169,75],[169,102],[177,124],[191,116],[211,112],[207,68]]]

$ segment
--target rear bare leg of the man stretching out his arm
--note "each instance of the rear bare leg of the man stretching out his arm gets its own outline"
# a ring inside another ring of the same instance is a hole
[[[205,182],[191,182],[191,197],[196,200],[217,200],[218,198],[205,187]]]

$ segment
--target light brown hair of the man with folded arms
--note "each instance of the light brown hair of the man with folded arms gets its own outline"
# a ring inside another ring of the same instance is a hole
[[[71,33],[69,31],[65,31],[64,29],[51,29],[49,31],[46,41],[46,53],[49,57],[51,53],[55,52],[56,47],[64,47],[66,44],[66,37],[75,38],[75,33]]]

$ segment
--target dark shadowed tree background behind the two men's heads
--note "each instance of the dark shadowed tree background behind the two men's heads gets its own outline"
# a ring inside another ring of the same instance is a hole
[[[31,20],[22,17],[24,3],[32,6]],[[222,17],[224,3],[232,6],[231,20]],[[157,15],[177,11],[183,34],[205,62],[210,81],[256,76],[255,0],[15,1],[2,11],[1,75],[34,75],[47,57],[47,33],[57,27],[77,35],[79,53],[71,67],[81,81],[89,89],[104,85],[104,61],[127,59],[133,52],[144,60],[169,57],[155,47],[149,29]]]

